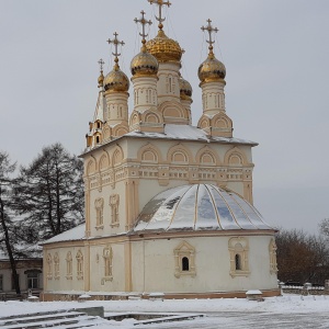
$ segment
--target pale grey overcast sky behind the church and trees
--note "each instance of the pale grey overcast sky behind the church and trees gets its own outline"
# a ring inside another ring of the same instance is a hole
[[[116,31],[131,77],[141,9],[154,21],[147,0],[0,0],[0,150],[20,164],[56,141],[81,154],[98,60],[112,68],[106,39]],[[193,123],[202,113],[197,67],[207,54],[200,27],[211,19],[234,136],[259,143],[254,205],[277,227],[317,232],[329,217],[329,1],[172,0],[164,14],[167,35],[185,49]],[[156,31],[155,22],[150,37]]]

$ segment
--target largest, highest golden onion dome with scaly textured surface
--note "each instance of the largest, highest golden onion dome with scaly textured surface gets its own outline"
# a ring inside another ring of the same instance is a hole
[[[169,38],[162,30],[158,32],[155,38],[146,43],[146,49],[158,61],[180,61],[183,54],[179,43]]]

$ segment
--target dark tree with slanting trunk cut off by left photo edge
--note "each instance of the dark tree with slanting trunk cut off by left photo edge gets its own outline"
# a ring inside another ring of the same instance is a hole
[[[11,192],[13,180],[12,173],[15,171],[15,163],[11,163],[9,155],[0,151],[0,222],[1,222],[1,246],[9,257],[12,280],[14,283],[16,294],[21,294],[19,275],[16,272],[16,263],[14,259],[14,246],[13,237],[10,228],[12,227],[11,215],[12,215],[12,202]],[[4,243],[4,246],[3,246]]]

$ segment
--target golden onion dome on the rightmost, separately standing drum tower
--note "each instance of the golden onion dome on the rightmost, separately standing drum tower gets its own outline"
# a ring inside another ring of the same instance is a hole
[[[225,65],[209,54],[207,59],[198,67],[198,79],[201,82],[222,81],[226,76]]]

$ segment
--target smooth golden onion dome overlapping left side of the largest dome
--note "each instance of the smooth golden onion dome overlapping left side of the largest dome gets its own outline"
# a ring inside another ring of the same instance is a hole
[[[131,71],[133,76],[154,76],[157,75],[158,69],[159,64],[157,58],[144,49],[141,49],[141,52],[137,54],[131,63]]]

